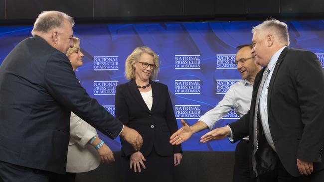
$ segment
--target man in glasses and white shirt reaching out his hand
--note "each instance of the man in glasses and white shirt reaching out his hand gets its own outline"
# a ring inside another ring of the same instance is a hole
[[[206,128],[212,129],[214,124],[232,109],[235,109],[240,117],[247,113],[250,109],[254,78],[261,70],[261,66],[255,63],[251,54],[252,47],[252,44],[245,44],[236,48],[238,52],[235,57],[235,65],[237,65],[242,80],[233,84],[216,107],[202,115],[194,125],[189,127],[181,120],[183,127],[171,136],[170,143],[172,145],[178,145],[188,140],[193,133]],[[233,182],[251,182],[248,140],[247,136],[236,146]]]

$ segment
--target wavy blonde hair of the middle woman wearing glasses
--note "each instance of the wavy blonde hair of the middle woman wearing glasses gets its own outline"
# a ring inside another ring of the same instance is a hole
[[[127,80],[135,80],[135,67],[133,66],[135,63],[137,63],[143,53],[147,53],[151,56],[153,56],[153,62],[156,65],[154,70],[152,71],[150,80],[156,79],[159,72],[159,56],[149,47],[143,46],[143,47],[137,47],[135,50],[130,54],[125,62],[125,78]]]

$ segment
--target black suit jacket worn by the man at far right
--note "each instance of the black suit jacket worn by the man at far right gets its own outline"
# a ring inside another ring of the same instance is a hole
[[[262,74],[256,76],[250,111],[231,123],[234,140],[250,136],[253,142],[254,109]],[[292,176],[300,176],[297,159],[314,162],[323,169],[324,75],[316,55],[309,51],[285,48],[279,56],[268,89],[268,122],[279,160]],[[258,118],[258,174],[275,167],[275,157]],[[256,174],[256,172],[254,172]]]

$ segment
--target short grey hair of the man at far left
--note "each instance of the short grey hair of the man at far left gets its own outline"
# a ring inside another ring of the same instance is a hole
[[[74,25],[74,20],[71,16],[60,11],[43,11],[38,15],[34,23],[34,28],[31,31],[32,35],[35,35],[36,32],[47,33],[53,28],[62,27],[63,20],[68,20],[71,25]]]

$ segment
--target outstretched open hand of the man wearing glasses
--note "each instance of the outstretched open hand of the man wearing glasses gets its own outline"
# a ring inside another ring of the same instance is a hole
[[[190,126],[183,120],[181,119],[182,127],[174,132],[171,137],[170,137],[170,143],[172,145],[179,145],[182,142],[188,140],[193,132],[190,129]]]

